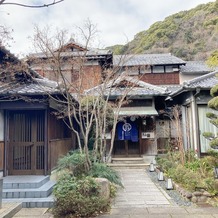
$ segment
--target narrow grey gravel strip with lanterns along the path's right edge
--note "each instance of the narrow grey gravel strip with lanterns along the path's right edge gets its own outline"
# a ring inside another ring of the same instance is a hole
[[[148,175],[150,176],[151,180],[163,188],[166,193],[175,201],[175,203],[179,206],[193,206],[193,203],[185,198],[183,198],[177,190],[167,190],[166,189],[166,181],[158,181],[157,173],[150,172],[147,170]]]

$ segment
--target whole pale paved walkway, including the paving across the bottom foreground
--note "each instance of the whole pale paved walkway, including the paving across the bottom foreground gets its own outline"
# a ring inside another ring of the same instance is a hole
[[[144,169],[119,170],[124,189],[118,191],[110,213],[98,218],[218,218],[218,208],[179,207],[154,184]],[[23,208],[15,218],[51,218],[45,208]]]

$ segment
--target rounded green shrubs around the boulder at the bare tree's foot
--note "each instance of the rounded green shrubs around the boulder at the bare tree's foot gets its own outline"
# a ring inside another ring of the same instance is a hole
[[[122,186],[116,171],[104,163],[94,162],[86,167],[86,156],[80,151],[68,153],[58,161],[58,181],[53,190],[56,202],[53,213],[57,217],[90,217],[106,210],[109,200],[100,197],[99,187],[94,177],[106,178],[110,184],[110,197],[114,197],[117,186]]]

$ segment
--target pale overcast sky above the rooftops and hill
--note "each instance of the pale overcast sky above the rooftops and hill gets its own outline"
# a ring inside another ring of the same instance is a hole
[[[53,0],[6,0],[28,4],[49,3]],[[13,29],[14,43],[10,50],[16,54],[31,52],[34,25],[45,25],[75,32],[90,19],[99,30],[98,47],[124,44],[134,35],[148,29],[154,22],[182,10],[215,0],[64,0],[57,5],[30,9],[0,5],[0,25]],[[100,42],[100,44],[99,44]]]

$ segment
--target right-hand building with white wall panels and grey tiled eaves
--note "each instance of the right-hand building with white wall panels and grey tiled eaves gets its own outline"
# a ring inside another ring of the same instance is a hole
[[[183,83],[181,88],[170,94],[168,100],[176,101],[182,108],[183,144],[185,149],[196,151],[200,157],[207,154],[209,141],[204,132],[217,134],[217,128],[206,117],[207,112],[218,114],[207,106],[210,89],[218,84],[218,71],[214,71]]]

